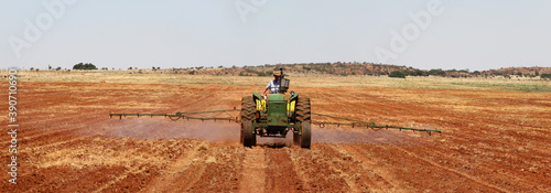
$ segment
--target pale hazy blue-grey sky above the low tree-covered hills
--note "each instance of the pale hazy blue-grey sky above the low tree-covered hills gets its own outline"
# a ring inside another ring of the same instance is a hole
[[[549,10],[549,0],[0,0],[0,67],[550,67]]]

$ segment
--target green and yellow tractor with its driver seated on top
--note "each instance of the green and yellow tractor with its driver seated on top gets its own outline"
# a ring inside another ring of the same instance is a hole
[[[311,143],[311,112],[310,98],[291,92],[289,98],[289,79],[281,71],[280,88],[278,94],[270,94],[268,100],[259,93],[241,99],[241,137],[245,147],[257,144],[257,136],[269,138],[285,138],[293,133],[293,143],[310,149]]]

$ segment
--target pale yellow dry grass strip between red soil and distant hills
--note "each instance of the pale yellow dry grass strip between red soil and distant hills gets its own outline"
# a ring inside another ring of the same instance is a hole
[[[8,74],[1,71],[1,74]],[[210,76],[181,74],[129,74],[128,71],[94,72],[19,72],[25,82],[79,82],[79,83],[132,83],[132,84],[186,84],[186,85],[234,85],[264,86],[271,77],[259,76]],[[467,90],[516,90],[551,92],[550,81],[503,79],[503,78],[446,78],[387,76],[331,76],[293,75],[293,87],[356,87],[356,88],[419,88],[419,89],[467,89]]]

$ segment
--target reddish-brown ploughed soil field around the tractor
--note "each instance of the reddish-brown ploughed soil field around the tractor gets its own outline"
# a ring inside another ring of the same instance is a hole
[[[231,122],[108,116],[239,108],[260,89],[23,82],[18,185],[4,132],[0,191],[551,192],[549,93],[295,88],[315,112],[444,131],[314,127],[311,150],[271,139],[242,148]]]

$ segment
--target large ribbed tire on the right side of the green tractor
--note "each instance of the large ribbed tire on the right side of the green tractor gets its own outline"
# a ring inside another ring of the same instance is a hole
[[[293,132],[293,143],[296,146],[301,146],[302,148],[310,148],[311,141],[311,108],[310,108],[310,98],[299,97],[296,100],[296,125],[302,126],[302,135],[299,132]]]

